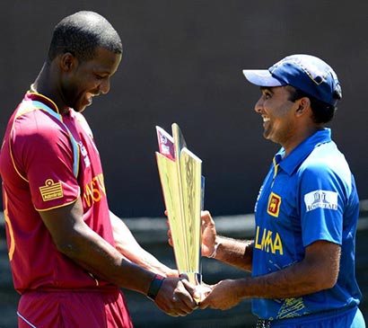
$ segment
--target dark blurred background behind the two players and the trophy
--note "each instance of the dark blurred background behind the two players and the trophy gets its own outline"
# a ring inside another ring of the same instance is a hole
[[[171,132],[173,122],[180,125],[189,149],[203,160],[205,208],[219,222],[221,233],[250,237],[258,188],[278,146],[262,137],[262,121],[253,111],[259,90],[245,81],[241,70],[267,68],[294,53],[316,55],[334,67],[343,101],[330,127],[355,173],[362,200],[357,270],[362,290],[368,289],[368,255],[363,244],[368,237],[364,219],[364,199],[368,199],[367,1],[13,0],[1,4],[1,137],[39,73],[54,26],[79,10],[105,16],[124,46],[110,93],[95,99],[84,112],[100,149],[110,208],[127,218],[145,247],[171,265],[175,263],[166,243],[154,155],[158,148],[155,126]],[[6,257],[4,222],[0,226],[0,328],[13,328],[18,296]],[[203,270],[208,282],[244,274],[215,261],[204,261]],[[180,319],[161,314],[148,299],[128,291],[127,302],[136,327],[148,322],[151,327],[248,327],[254,323],[249,301],[230,311],[197,311]],[[365,304],[364,297],[362,308],[367,316]]]

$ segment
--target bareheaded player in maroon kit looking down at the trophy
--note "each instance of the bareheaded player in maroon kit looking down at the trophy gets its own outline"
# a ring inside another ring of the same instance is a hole
[[[0,173],[21,328],[131,327],[119,288],[153,298],[168,315],[196,306],[188,281],[145,252],[108,206],[81,112],[109,92],[121,54],[118,33],[101,15],[67,16],[9,120]]]

